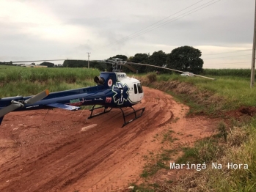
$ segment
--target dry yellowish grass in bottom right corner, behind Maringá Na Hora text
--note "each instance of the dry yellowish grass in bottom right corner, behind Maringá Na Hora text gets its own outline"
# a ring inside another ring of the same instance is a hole
[[[156,191],[256,191],[256,119],[230,128],[227,137],[220,130],[218,137],[215,143],[199,141],[179,159],[204,161],[206,169],[189,172],[175,185],[163,182]]]

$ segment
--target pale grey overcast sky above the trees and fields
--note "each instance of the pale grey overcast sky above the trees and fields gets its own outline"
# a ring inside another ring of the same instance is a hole
[[[202,51],[204,68],[250,68],[254,17],[254,0],[1,0],[0,62],[189,45]]]

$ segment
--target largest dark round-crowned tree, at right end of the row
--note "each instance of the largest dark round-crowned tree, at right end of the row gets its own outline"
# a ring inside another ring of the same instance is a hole
[[[167,55],[167,67],[198,74],[202,72],[201,55],[199,49],[190,46],[175,48]]]

